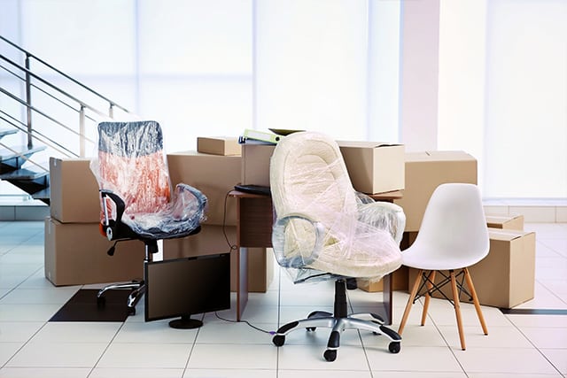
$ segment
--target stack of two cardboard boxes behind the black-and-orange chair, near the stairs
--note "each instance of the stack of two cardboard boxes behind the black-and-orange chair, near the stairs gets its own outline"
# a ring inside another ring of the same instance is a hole
[[[45,220],[45,277],[54,285],[143,277],[144,243],[113,243],[99,232],[98,184],[89,159],[50,158],[50,217]]]

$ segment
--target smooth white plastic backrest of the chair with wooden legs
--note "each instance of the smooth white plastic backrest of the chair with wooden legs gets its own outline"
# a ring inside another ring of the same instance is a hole
[[[423,213],[415,245],[428,245],[439,255],[466,254],[469,261],[489,250],[482,197],[477,185],[444,183],[433,191]]]

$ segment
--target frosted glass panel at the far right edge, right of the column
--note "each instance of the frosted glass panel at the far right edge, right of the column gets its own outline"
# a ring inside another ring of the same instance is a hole
[[[567,2],[488,2],[485,197],[567,197]]]

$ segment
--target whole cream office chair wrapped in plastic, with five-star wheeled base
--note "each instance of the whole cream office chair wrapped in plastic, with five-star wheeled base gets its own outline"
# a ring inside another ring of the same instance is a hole
[[[374,202],[352,186],[337,143],[326,135],[298,132],[283,137],[270,163],[276,210],[272,233],[277,262],[291,279],[335,280],[334,313],[315,311],[277,330],[273,343],[299,328],[332,328],[324,359],[337,358],[341,333],[360,328],[384,334],[389,350],[400,351],[400,336],[375,313],[348,314],[346,278],[379,279],[401,264],[405,215],[396,204]],[[365,319],[366,318],[366,319]]]

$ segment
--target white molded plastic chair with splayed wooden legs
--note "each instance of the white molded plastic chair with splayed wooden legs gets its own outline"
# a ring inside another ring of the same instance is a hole
[[[416,241],[402,252],[403,265],[418,269],[418,274],[411,288],[408,305],[406,305],[398,333],[401,335],[408,320],[411,306],[415,303],[419,292],[424,291],[419,297],[425,298],[421,322],[423,326],[431,294],[437,290],[441,292],[441,287],[450,283],[453,297],[446,298],[452,301],[454,305],[462,350],[464,351],[466,347],[459,305],[461,292],[470,296],[483,332],[488,335],[468,269],[468,266],[472,266],[485,258],[488,250],[488,229],[486,228],[485,213],[478,187],[466,183],[439,185],[427,204]],[[448,274],[443,271],[448,271]],[[460,272],[455,275],[455,271]],[[445,277],[444,280],[434,283],[436,273],[442,274]],[[460,282],[457,280],[461,275],[464,276],[464,281],[466,281],[470,292],[464,288],[463,280]],[[420,282],[423,282],[421,287]],[[446,296],[445,294],[442,295]]]

